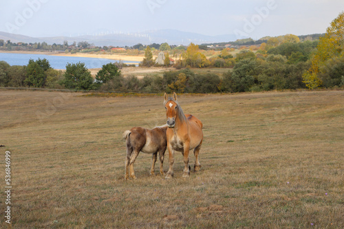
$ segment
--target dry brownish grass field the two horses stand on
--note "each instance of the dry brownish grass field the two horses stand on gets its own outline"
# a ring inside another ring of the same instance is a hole
[[[201,171],[182,178],[178,153],[173,180],[158,161],[149,176],[140,153],[127,181],[122,132],[164,124],[163,97],[85,95],[0,91],[12,228],[344,228],[344,91],[179,95],[204,124]]]

